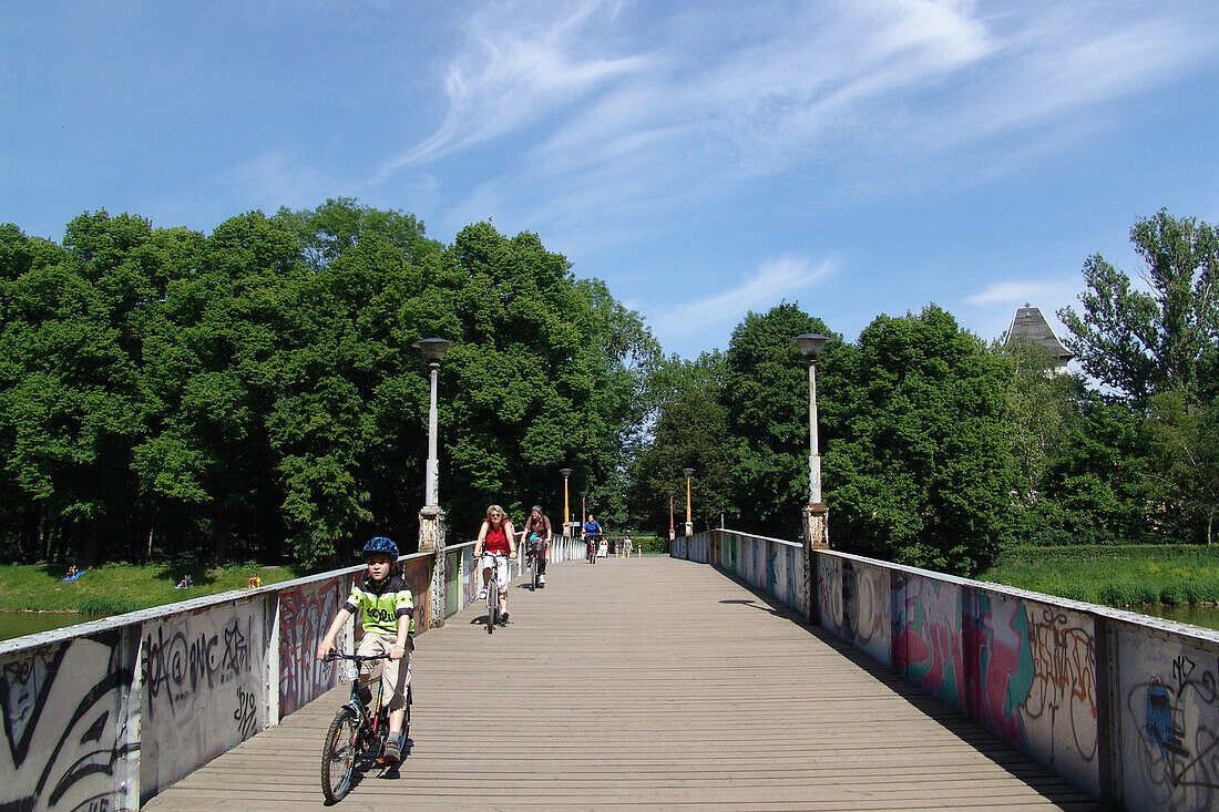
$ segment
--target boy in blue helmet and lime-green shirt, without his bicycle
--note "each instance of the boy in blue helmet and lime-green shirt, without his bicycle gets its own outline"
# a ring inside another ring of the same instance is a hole
[[[317,658],[334,651],[334,640],[347,618],[362,612],[364,629],[356,654],[384,655],[382,686],[389,708],[389,740],[382,761],[396,764],[402,760],[399,736],[406,718],[406,689],[411,684],[411,651],[414,650],[414,595],[400,575],[391,574],[397,563],[397,545],[384,536],[371,539],[363,549],[368,575],[351,586],[351,595],[334,616],[330,630],[317,646]],[[401,662],[400,662],[401,661]],[[372,666],[362,666],[360,679],[367,685]]]

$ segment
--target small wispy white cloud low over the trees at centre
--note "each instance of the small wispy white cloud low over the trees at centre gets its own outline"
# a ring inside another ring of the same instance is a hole
[[[698,330],[730,327],[751,310],[770,308],[783,299],[811,291],[835,267],[834,260],[813,262],[808,257],[783,255],[761,263],[751,277],[727,290],[657,313],[649,312],[646,306],[640,310],[662,340],[680,339]]]

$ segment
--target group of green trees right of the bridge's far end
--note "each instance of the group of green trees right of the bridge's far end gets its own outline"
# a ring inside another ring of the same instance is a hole
[[[842,343],[784,304],[750,313],[727,354],[668,358],[651,383],[653,443],[631,506],[667,530],[661,494],[694,480],[696,524],[780,538],[807,501],[806,362],[818,361],[824,497],[835,547],[973,574],[1004,545],[1206,541],[1219,511],[1219,245],[1165,212],[1130,233],[1145,289],[1084,266],[1067,345],[1086,377],[1023,341],[987,346],[930,305]],[[684,507],[684,505],[683,505]],[[679,529],[680,532],[680,529]]]

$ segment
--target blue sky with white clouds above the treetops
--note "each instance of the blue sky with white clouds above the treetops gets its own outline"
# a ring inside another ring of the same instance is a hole
[[[1219,221],[1217,79],[1214,0],[10,0],[0,221],[354,196],[535,232],[686,357],[781,300],[991,339]]]

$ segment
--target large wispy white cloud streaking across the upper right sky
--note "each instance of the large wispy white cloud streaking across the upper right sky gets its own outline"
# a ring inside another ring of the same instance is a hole
[[[1197,5],[995,9],[496,4],[472,17],[450,62],[444,122],[373,183],[511,135],[516,160],[482,178],[478,198],[563,234],[775,174],[850,177],[884,194],[912,173],[942,183],[928,168],[940,162],[969,182],[1037,151],[1002,143],[962,166],[963,145],[1086,137],[1104,126],[1097,104],[1171,80],[1219,45],[1219,12]]]

